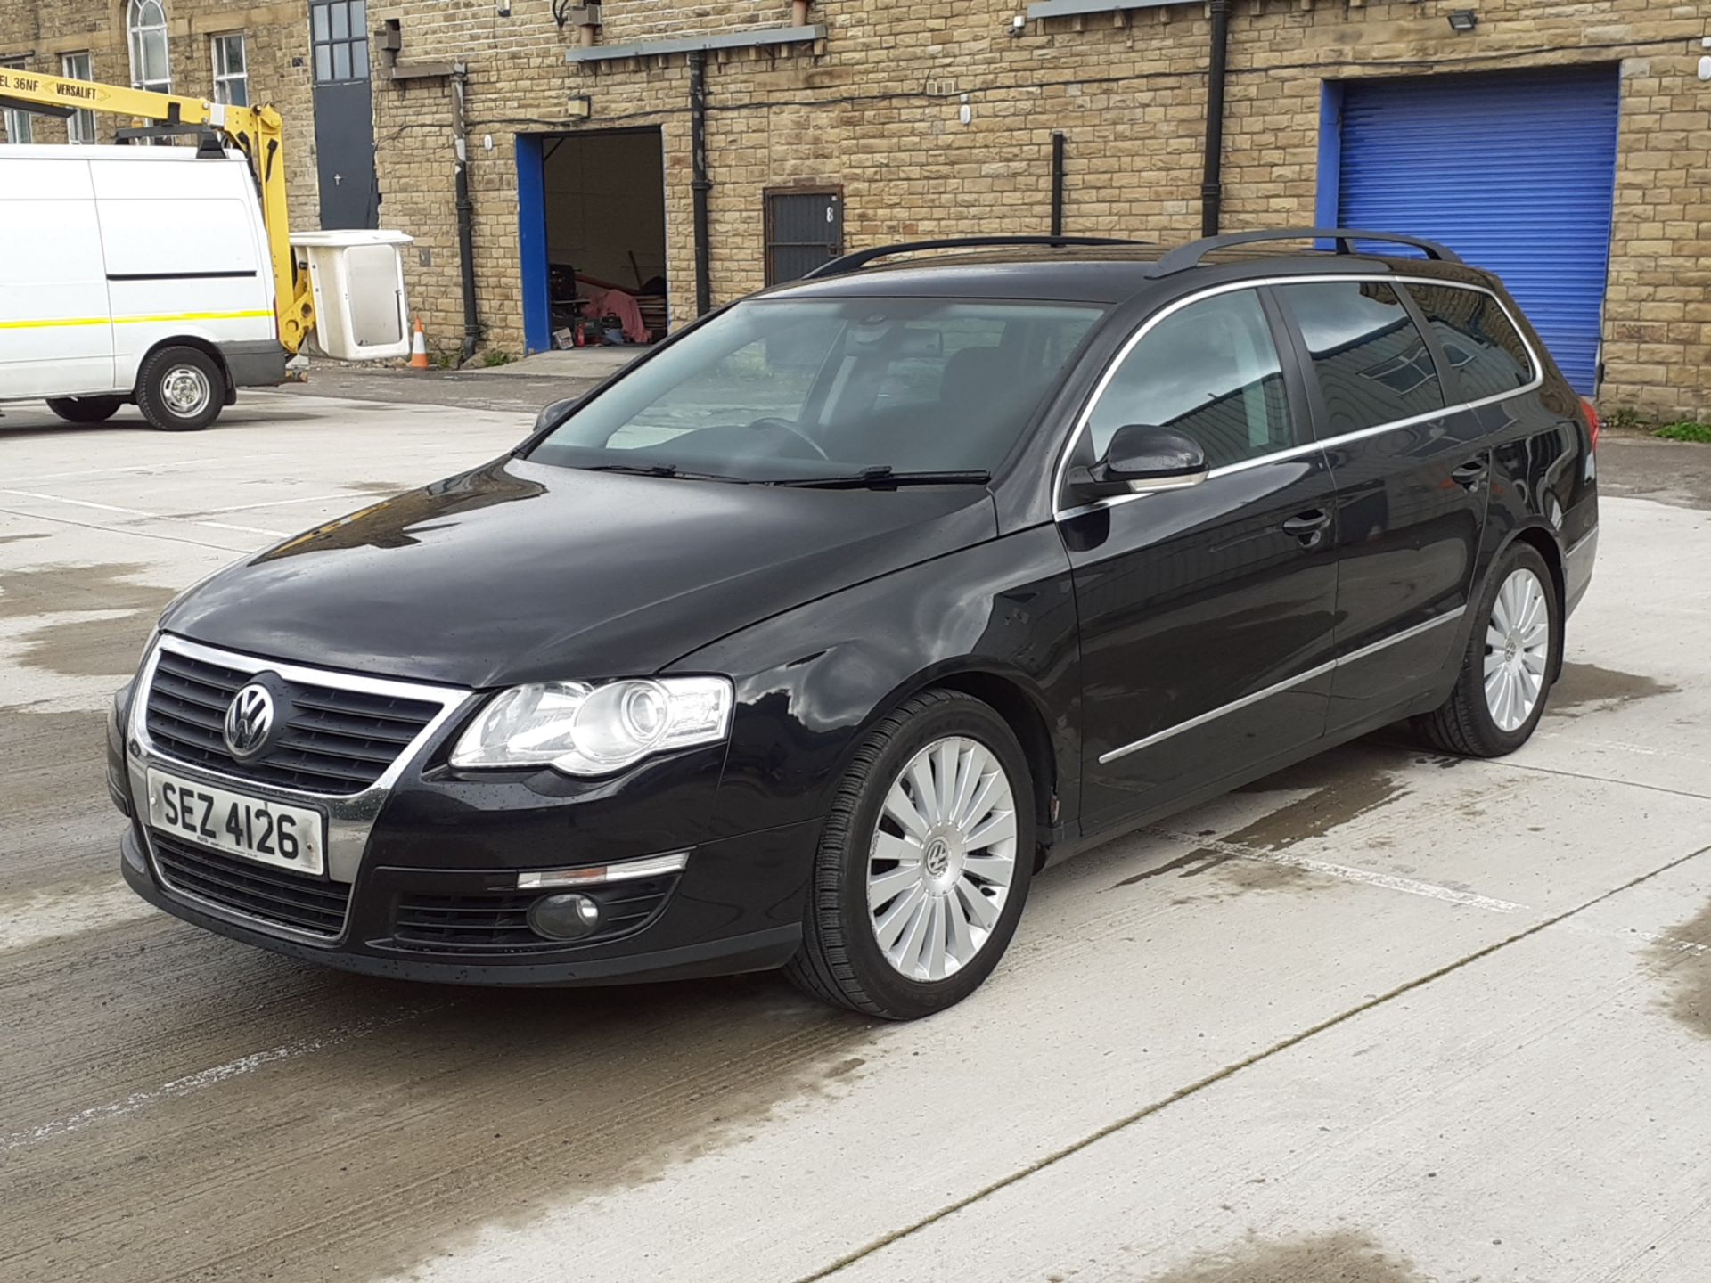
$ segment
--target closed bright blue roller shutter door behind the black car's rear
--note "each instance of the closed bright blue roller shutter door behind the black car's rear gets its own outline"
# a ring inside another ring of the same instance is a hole
[[[1562,373],[1591,395],[1617,96],[1613,65],[1348,80],[1338,222],[1429,236],[1497,272]]]

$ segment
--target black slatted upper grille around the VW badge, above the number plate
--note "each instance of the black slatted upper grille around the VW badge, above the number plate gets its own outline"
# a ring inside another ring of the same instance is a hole
[[[428,700],[352,691],[301,681],[281,683],[284,732],[258,758],[226,751],[226,708],[255,674],[159,652],[149,683],[149,737],[163,753],[257,783],[349,797],[387,766],[440,712]]]

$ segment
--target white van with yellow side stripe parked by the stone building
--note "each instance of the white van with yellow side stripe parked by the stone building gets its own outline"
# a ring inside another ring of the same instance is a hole
[[[0,402],[195,429],[286,359],[238,152],[0,147]]]

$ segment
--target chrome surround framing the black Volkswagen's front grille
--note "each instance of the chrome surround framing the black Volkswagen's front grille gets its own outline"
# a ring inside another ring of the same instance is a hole
[[[440,712],[435,713],[416,734],[416,737],[399,751],[399,756],[390,766],[387,766],[385,772],[382,772],[380,778],[359,794],[329,795],[308,792],[305,789],[282,789],[275,783],[260,783],[257,780],[246,780],[238,775],[210,770],[209,766],[198,766],[192,761],[183,761],[169,753],[164,753],[154,744],[152,739],[149,739],[149,693],[154,686],[154,671],[159,665],[161,652],[166,650],[175,655],[198,659],[207,664],[219,664],[240,672],[277,672],[287,681],[299,681],[313,686],[330,686],[346,691],[363,691],[366,695],[385,695],[400,700],[438,703]],[[207,780],[209,783],[216,783],[222,789],[233,789],[252,797],[274,797],[282,802],[291,802],[293,806],[308,806],[322,811],[327,816],[327,878],[332,883],[352,886],[363,864],[363,852],[368,848],[368,835],[375,826],[375,819],[380,816],[382,804],[392,794],[392,789],[397,785],[404,772],[421,756],[428,741],[438,734],[452,717],[469,707],[474,698],[472,691],[460,686],[435,686],[390,677],[363,677],[349,672],[306,667],[303,664],[284,664],[163,633],[156,638],[154,645],[149,647],[149,653],[137,674],[135,695],[130,701],[130,725],[127,727],[125,736],[125,766],[130,773],[132,797],[140,799],[137,806],[139,826],[144,837],[144,854],[147,855],[149,867],[154,871],[156,881],[159,881],[159,884],[173,896],[195,903],[205,913],[228,922],[238,922],[253,931],[265,931],[270,936],[282,936],[286,939],[322,946],[340,941],[344,937],[344,927],[340,927],[339,936],[299,931],[269,919],[228,908],[226,905],[214,903],[212,900],[204,900],[193,891],[185,891],[183,888],[175,886],[171,879],[163,874],[161,866],[156,860],[154,838],[147,823],[149,766],[183,775],[192,780]]]

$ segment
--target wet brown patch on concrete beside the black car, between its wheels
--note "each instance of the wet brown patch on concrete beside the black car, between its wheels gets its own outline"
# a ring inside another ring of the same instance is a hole
[[[1299,792],[1302,789],[1311,789],[1311,792],[1227,837],[1217,838],[1217,843],[1198,847],[1167,864],[1124,878],[1116,886],[1133,886],[1153,878],[1198,878],[1217,872],[1222,891],[1208,891],[1206,895],[1307,890],[1321,884],[1321,879],[1311,871],[1290,864],[1246,859],[1240,852],[1280,852],[1311,838],[1323,838],[1406,792],[1389,766],[1360,753],[1314,758],[1276,775],[1268,775],[1237,792]],[[1208,830],[1199,837],[1217,835]]]

